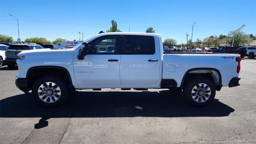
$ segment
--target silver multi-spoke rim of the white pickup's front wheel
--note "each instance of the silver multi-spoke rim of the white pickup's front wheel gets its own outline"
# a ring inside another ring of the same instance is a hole
[[[40,100],[46,103],[56,102],[60,98],[60,88],[54,82],[45,82],[38,88],[38,96]]]

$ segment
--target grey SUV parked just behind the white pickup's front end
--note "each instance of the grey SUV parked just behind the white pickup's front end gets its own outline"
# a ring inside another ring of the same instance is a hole
[[[37,44],[12,44],[8,50],[5,51],[5,62],[9,68],[13,68],[16,65],[16,60],[19,59],[18,54],[26,50],[43,49],[44,47]]]

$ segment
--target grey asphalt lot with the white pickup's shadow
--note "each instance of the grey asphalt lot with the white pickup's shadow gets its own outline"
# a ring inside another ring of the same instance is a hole
[[[204,108],[166,89],[79,90],[68,104],[41,108],[0,68],[0,143],[256,143],[256,59],[243,59],[239,87]],[[143,108],[143,109],[142,109]]]

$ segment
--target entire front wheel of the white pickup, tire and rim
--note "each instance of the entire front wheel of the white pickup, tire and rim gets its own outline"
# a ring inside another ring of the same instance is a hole
[[[32,96],[41,106],[54,107],[63,104],[68,96],[68,84],[56,76],[44,76],[36,80]]]

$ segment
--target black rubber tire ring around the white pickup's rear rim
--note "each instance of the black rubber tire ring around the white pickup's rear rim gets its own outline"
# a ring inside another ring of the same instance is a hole
[[[200,84],[200,83],[207,84],[210,87],[210,90],[211,90],[210,98],[208,100],[206,100],[206,102],[196,102],[192,98],[192,95],[191,95],[191,92],[192,92],[194,86],[196,86],[196,84]],[[192,78],[191,80],[189,80],[186,84],[186,88],[185,88],[184,92],[185,92],[184,94],[185,94],[186,99],[188,100],[188,102],[191,105],[197,106],[197,107],[206,106],[207,104],[212,102],[212,100],[214,100],[214,97],[215,97],[215,94],[216,94],[216,90],[215,90],[215,86],[214,86],[213,82],[210,81],[207,78],[204,78],[204,77],[197,77],[197,78]]]

